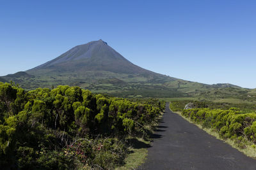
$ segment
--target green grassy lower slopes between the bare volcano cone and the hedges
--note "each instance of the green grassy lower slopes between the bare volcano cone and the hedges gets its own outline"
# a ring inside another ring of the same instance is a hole
[[[51,71],[42,69],[34,76],[4,76],[4,80],[15,81],[26,90],[38,87],[50,88],[52,85],[70,85],[83,87],[93,92],[108,93],[118,97],[157,97],[165,101],[198,100],[218,101],[227,99],[237,103],[236,99],[246,102],[246,97],[255,98],[255,89],[228,87],[225,85],[205,85],[192,81],[179,80],[159,74],[128,74],[111,71]],[[1,80],[0,80],[1,81]],[[172,97],[172,98],[170,98]],[[232,99],[234,99],[232,101]]]

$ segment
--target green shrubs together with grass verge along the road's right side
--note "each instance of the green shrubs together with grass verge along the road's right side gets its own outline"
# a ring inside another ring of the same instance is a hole
[[[189,122],[197,124],[216,138],[227,141],[230,145],[250,157],[256,157],[256,113],[255,110],[250,113],[248,107],[240,104],[240,108],[229,108],[226,110],[211,109],[212,107],[227,108],[216,103],[194,102],[195,108],[189,110],[180,109],[184,102],[170,103],[171,110],[177,110],[182,117]],[[207,106],[209,104],[209,106]],[[207,107],[207,108],[205,108]],[[209,107],[209,108],[208,108]],[[249,107],[251,108],[251,107]],[[255,106],[254,106],[255,109]],[[181,111],[181,112],[180,112]]]

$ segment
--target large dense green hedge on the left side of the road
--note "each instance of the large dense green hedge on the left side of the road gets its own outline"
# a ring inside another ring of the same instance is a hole
[[[155,99],[134,103],[79,87],[26,92],[0,83],[0,167],[111,169],[124,162],[118,138],[140,134],[163,108]]]

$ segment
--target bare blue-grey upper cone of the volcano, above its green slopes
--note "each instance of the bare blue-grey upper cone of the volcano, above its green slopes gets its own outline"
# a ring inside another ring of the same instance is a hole
[[[59,57],[28,70],[27,73],[45,73],[43,70],[51,73],[109,71],[140,74],[150,72],[129,62],[102,39],[84,45],[77,45]]]

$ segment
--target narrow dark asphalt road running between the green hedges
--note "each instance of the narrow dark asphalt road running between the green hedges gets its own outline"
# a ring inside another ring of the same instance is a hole
[[[256,169],[256,160],[166,110],[138,169]]]

